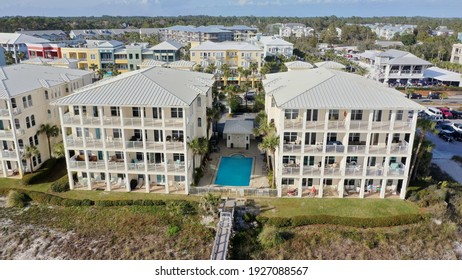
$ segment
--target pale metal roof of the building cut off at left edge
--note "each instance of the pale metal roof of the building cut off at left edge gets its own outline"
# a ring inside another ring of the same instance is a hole
[[[1,79],[5,87],[0,98],[6,99],[40,88],[48,88],[67,83],[68,80],[78,80],[92,71],[67,69],[33,64],[15,64],[1,67],[5,79]],[[1,90],[0,90],[1,91]]]

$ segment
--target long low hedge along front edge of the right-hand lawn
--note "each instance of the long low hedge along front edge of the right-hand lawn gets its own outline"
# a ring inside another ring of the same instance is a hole
[[[295,216],[291,218],[285,217],[263,217],[258,216],[257,221],[263,224],[272,225],[275,227],[289,226],[306,226],[306,225],[344,225],[353,227],[389,227],[406,224],[418,223],[425,219],[425,216],[420,214],[397,215],[390,217],[378,218],[358,218],[358,217],[339,217],[331,215],[310,215],[310,216]]]

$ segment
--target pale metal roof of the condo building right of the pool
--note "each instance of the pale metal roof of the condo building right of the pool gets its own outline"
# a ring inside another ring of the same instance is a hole
[[[376,81],[326,68],[266,75],[263,86],[281,108],[422,109],[421,105]]]

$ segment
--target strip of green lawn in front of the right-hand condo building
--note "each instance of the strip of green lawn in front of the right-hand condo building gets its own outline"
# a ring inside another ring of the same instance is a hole
[[[262,216],[294,217],[332,215],[341,217],[375,218],[403,214],[419,214],[415,204],[398,199],[261,199]]]

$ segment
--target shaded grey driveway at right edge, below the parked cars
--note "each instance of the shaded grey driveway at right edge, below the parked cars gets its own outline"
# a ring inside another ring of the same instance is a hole
[[[432,162],[438,165],[442,171],[448,173],[459,184],[462,184],[462,167],[458,162],[451,159],[454,155],[462,156],[462,142],[448,143],[433,133],[427,133],[426,136],[427,140],[435,144]]]

